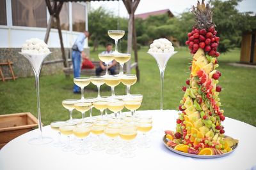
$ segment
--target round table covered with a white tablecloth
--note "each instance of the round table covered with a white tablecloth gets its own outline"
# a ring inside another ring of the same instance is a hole
[[[239,139],[234,153],[217,159],[194,159],[168,150],[163,144],[164,130],[175,130],[178,117],[174,110],[138,111],[152,113],[152,146],[137,148],[136,157],[125,159],[120,155],[108,155],[104,151],[90,149],[87,155],[62,152],[61,148],[47,145],[29,145],[28,139],[36,136],[38,130],[30,131],[13,139],[0,150],[1,170],[21,169],[256,169],[256,127],[226,118],[225,131],[228,136]],[[56,140],[56,132],[47,125],[44,134]]]

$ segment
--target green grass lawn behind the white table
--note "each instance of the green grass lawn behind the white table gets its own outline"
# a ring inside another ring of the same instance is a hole
[[[104,50],[100,47],[99,52]],[[181,87],[189,77],[189,62],[191,55],[187,48],[177,49],[168,62],[164,74],[164,109],[173,110],[179,106],[184,92]],[[97,60],[97,53],[91,52],[91,57]],[[160,108],[160,78],[159,69],[153,57],[148,55],[147,47],[139,52],[141,80],[131,87],[132,93],[143,94],[143,104],[140,110],[157,110]],[[219,70],[222,73],[220,85],[221,108],[230,118],[241,120],[256,126],[256,69],[229,66],[228,62],[239,61],[239,49],[222,54],[219,57]],[[134,72],[134,70],[132,70]],[[67,120],[68,111],[63,108],[63,99],[79,99],[81,96],[72,93],[72,77],[64,74],[40,77],[40,100],[42,122],[47,125],[56,120]],[[102,86],[102,96],[110,96],[108,86]],[[125,86],[120,84],[115,89],[116,94],[124,94]],[[96,87],[90,84],[85,88],[86,97],[97,96]],[[0,81],[0,114],[31,112],[36,115],[35,78],[19,78],[17,81]],[[87,113],[88,114],[88,113]],[[99,111],[94,111],[99,114]],[[74,111],[74,117],[80,118],[81,113]]]

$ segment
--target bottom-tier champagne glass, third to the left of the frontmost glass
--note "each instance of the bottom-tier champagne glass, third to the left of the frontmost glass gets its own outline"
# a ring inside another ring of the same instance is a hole
[[[90,131],[91,131],[90,127],[86,127],[86,126],[74,127],[74,129],[73,129],[74,135],[77,138],[81,139],[80,148],[76,152],[78,155],[85,155],[85,154],[89,153],[89,150],[84,148],[84,138],[86,138],[90,134]]]

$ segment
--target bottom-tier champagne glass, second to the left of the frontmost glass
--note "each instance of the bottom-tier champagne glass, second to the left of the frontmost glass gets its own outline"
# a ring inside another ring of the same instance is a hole
[[[102,140],[100,139],[100,135],[103,134],[104,130],[106,129],[106,126],[102,125],[93,125],[91,132],[95,135],[97,135],[97,139],[95,141],[95,146],[92,147],[95,151],[101,151],[104,150],[105,147],[102,144]]]

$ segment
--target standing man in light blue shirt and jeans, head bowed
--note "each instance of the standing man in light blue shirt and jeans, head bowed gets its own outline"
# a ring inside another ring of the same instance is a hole
[[[84,53],[84,40],[88,38],[90,33],[88,31],[84,31],[83,33],[77,36],[77,39],[72,46],[72,63],[74,69],[74,78],[79,77],[81,73],[81,57],[86,57],[86,53]],[[74,85],[73,89],[74,93],[80,93],[80,87]]]

